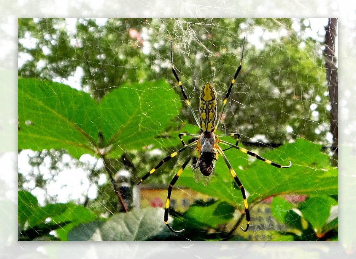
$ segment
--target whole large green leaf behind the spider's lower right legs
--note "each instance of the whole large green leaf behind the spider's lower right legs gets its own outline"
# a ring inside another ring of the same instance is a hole
[[[263,156],[283,165],[292,161],[290,168],[276,168],[260,160],[245,167],[246,154],[230,149],[225,152],[237,176],[248,192],[249,203],[258,202],[269,196],[280,194],[337,195],[337,169],[330,168],[329,158],[321,152],[321,146],[298,139],[278,149],[266,152]],[[201,193],[220,198],[231,204],[241,204],[241,191],[223,159],[215,164],[214,176],[208,186],[195,183],[192,172],[185,169],[177,185],[185,185]]]

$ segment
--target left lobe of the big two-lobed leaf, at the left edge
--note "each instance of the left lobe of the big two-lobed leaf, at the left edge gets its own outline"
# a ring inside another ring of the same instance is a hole
[[[19,149],[66,149],[75,158],[97,142],[98,112],[88,93],[48,80],[18,80]]]

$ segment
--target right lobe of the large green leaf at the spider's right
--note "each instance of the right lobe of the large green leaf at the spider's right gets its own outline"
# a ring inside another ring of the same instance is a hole
[[[278,194],[337,195],[338,170],[329,165],[329,156],[321,149],[321,145],[298,139],[265,153],[277,163],[287,165],[290,160],[293,164],[290,168],[278,169],[261,161],[254,162],[248,168],[248,175],[241,176],[251,194],[249,200],[258,201]]]

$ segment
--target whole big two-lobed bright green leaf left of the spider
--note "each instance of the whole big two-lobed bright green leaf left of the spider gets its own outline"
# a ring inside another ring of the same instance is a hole
[[[18,85],[19,149],[66,149],[75,158],[141,149],[155,142],[181,107],[164,80],[123,85],[100,104],[61,83],[20,78]]]

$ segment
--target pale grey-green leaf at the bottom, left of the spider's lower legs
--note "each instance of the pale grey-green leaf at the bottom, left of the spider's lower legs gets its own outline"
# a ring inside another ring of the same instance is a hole
[[[158,220],[162,219],[162,220]],[[74,227],[69,241],[149,241],[164,228],[163,209],[134,209],[115,214],[106,222],[93,221]]]

